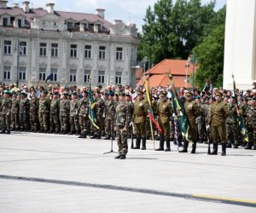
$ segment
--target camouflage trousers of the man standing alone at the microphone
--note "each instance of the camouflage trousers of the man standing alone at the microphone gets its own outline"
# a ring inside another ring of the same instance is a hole
[[[119,153],[128,153],[128,142],[127,142],[127,130],[124,130],[124,126],[116,126],[116,141],[119,146]]]

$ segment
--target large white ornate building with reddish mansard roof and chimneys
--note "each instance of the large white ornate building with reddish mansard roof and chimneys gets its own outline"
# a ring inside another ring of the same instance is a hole
[[[96,14],[8,7],[0,0],[0,82],[61,85],[136,84],[137,28]]]

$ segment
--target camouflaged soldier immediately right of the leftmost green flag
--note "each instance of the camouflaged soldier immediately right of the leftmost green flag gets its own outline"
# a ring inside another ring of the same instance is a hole
[[[91,138],[101,139],[102,136],[102,115],[104,111],[104,101],[101,98],[100,91],[95,91],[95,99],[94,99],[94,107],[93,110],[96,115],[96,125],[99,127],[99,129],[96,129],[95,126],[93,126],[93,136]]]

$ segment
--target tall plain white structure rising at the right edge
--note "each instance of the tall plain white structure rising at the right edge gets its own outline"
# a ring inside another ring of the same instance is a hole
[[[239,89],[256,82],[256,1],[227,0],[224,46],[224,88]]]

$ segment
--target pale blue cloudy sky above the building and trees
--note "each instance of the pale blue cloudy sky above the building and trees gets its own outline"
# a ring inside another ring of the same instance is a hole
[[[96,9],[106,9],[105,19],[123,20],[125,24],[135,23],[139,32],[143,26],[143,18],[148,6],[154,6],[157,0],[28,0],[31,8],[44,8],[46,3],[55,3],[55,10],[72,11],[86,14],[96,14]],[[202,3],[209,3],[211,0],[201,0]],[[9,0],[9,6],[19,3],[22,6],[24,0]],[[226,0],[216,0],[216,10],[221,9]]]

